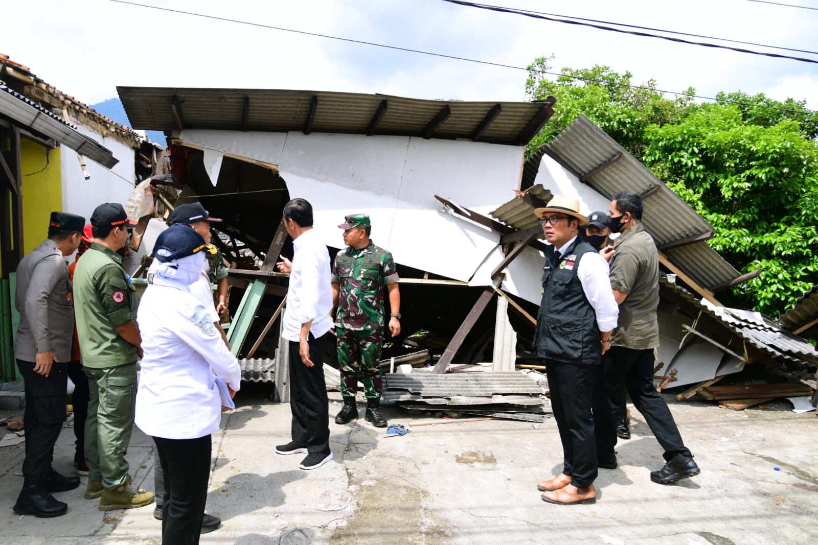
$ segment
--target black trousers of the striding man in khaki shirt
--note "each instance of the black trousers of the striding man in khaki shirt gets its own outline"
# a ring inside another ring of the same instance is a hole
[[[624,346],[611,346],[602,356],[605,383],[595,395],[594,418],[596,421],[596,444],[600,458],[613,456],[617,444],[616,419],[619,416],[618,396],[622,386],[627,388],[631,402],[648,422],[650,431],[664,449],[665,460],[676,454],[692,456],[681,440],[679,428],[673,421],[667,403],[654,386],[654,351],[651,348],[635,350]]]

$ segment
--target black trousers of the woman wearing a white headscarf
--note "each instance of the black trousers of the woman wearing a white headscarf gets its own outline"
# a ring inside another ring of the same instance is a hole
[[[167,499],[162,503],[163,545],[199,543],[210,476],[210,436],[154,437]]]

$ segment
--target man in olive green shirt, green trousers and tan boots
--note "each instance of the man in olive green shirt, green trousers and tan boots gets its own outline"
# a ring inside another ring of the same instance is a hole
[[[77,336],[90,399],[85,421],[85,497],[101,511],[142,507],[154,495],[131,488],[125,454],[133,430],[137,359],[142,338],[135,321],[137,293],[117,251],[128,240],[128,216],[119,204],[98,206],[94,242],[74,270]]]

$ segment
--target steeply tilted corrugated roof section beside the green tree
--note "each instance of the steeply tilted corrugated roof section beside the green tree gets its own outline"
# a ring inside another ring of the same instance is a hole
[[[622,190],[645,194],[642,224],[672,263],[704,288],[713,289],[739,277],[739,271],[703,240],[712,226],[605,131],[580,115],[555,138],[540,147],[524,166],[523,187],[537,176],[542,155],[548,154],[579,178],[587,176],[618,154],[620,159],[588,177],[587,183],[606,198]],[[672,243],[685,245],[672,246]]]

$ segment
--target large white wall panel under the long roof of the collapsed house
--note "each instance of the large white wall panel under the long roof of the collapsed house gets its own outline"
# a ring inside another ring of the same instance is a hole
[[[180,139],[276,164],[290,197],[312,203],[328,246],[343,245],[337,226],[345,215],[366,213],[372,239],[398,263],[463,281],[499,235],[449,216],[434,195],[488,215],[513,196],[524,154],[513,145],[408,136],[186,130]]]

